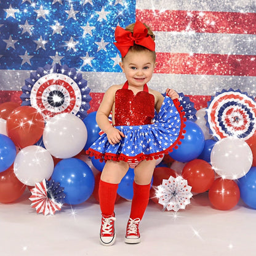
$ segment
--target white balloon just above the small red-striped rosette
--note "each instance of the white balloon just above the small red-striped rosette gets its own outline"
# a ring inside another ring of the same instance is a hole
[[[14,173],[20,182],[34,186],[36,182],[48,180],[54,172],[54,160],[41,146],[26,146],[14,160]]]

